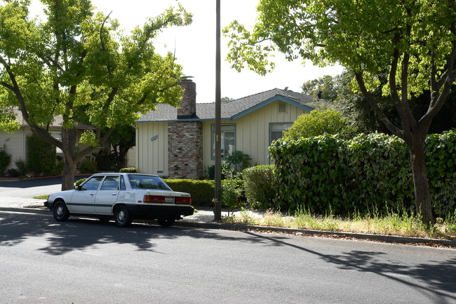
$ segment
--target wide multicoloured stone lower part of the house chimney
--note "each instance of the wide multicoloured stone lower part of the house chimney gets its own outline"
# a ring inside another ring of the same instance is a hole
[[[203,126],[201,121],[168,123],[169,178],[203,177]]]

